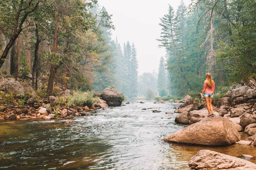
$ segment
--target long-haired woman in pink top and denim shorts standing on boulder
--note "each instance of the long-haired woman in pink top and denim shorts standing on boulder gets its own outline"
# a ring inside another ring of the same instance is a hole
[[[211,74],[207,73],[205,75],[206,80],[204,81],[204,88],[203,88],[203,92],[201,94],[201,98],[203,98],[206,101],[206,105],[207,105],[207,110],[208,110],[208,117],[212,117],[214,116],[213,114],[213,107],[212,107],[212,97],[213,97],[213,93],[215,91],[215,83],[212,80],[212,76]]]

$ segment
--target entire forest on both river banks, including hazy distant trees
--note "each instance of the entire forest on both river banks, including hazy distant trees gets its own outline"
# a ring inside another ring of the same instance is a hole
[[[249,84],[256,79],[255,14],[255,0],[181,1],[177,11],[170,4],[159,23],[166,56],[158,73],[138,76],[134,43],[112,40],[112,15],[96,0],[2,0],[1,73],[29,78],[47,96],[55,86],[100,92],[114,86],[129,98],[184,96],[201,91],[207,72],[217,89]]]

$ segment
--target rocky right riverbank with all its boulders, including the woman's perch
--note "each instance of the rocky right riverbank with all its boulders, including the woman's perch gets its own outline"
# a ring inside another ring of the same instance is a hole
[[[215,102],[214,117],[207,117],[205,103],[186,100],[175,111],[175,122],[189,124],[163,139],[166,142],[224,146],[256,146],[256,90],[247,86],[233,88]],[[241,140],[240,134],[249,137]],[[241,153],[243,154],[243,153]],[[252,153],[254,154],[254,153]],[[211,150],[200,150],[189,161],[192,170],[255,170],[256,164]]]

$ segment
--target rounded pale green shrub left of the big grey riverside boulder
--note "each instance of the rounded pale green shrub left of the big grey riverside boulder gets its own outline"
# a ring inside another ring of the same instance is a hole
[[[94,91],[73,91],[73,94],[71,94],[67,99],[68,105],[77,105],[81,107],[84,107],[86,105],[91,106],[94,102],[97,101],[97,98],[94,98],[93,94]]]

